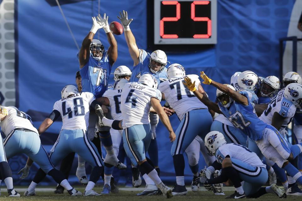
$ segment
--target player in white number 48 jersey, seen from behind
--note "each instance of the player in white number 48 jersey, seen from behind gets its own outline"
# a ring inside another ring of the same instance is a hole
[[[84,196],[100,195],[92,188],[100,177],[102,159],[95,145],[87,137],[89,109],[90,106],[94,107],[97,101],[92,93],[79,93],[74,85],[65,86],[61,95],[62,99],[55,102],[53,111],[42,122],[38,131],[40,134],[45,132],[58,117],[62,117],[62,131],[50,150],[49,158],[57,165],[66,155],[76,152],[93,168]],[[45,176],[46,174],[39,169],[34,179],[35,183],[41,182]],[[28,189],[27,192],[32,194],[34,189]]]

